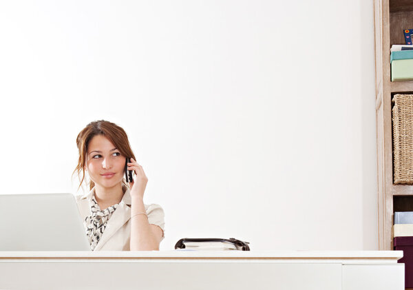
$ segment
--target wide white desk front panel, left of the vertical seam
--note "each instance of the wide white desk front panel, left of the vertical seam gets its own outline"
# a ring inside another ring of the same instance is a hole
[[[0,289],[340,290],[339,263],[0,262]]]

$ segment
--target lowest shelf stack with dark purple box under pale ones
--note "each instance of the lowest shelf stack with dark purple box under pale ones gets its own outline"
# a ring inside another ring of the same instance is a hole
[[[405,287],[413,287],[413,211],[396,211],[394,213],[394,249],[403,251],[405,263]]]

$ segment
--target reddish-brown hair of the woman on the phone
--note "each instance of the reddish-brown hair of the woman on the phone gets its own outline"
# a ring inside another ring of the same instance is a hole
[[[129,139],[123,128],[119,127],[115,123],[109,121],[100,120],[93,121],[86,125],[86,127],[78,134],[76,138],[76,145],[79,150],[78,165],[74,169],[73,174],[77,172],[81,184],[85,181],[85,165],[87,157],[87,149],[89,147],[89,142],[94,136],[103,135],[105,136],[113,145],[119,150],[120,154],[125,157],[131,157],[135,159],[135,154],[132,152],[131,145],[129,144]],[[72,176],[73,176],[72,174]],[[127,185],[126,181],[123,183]],[[89,189],[94,187],[94,182],[89,181]]]

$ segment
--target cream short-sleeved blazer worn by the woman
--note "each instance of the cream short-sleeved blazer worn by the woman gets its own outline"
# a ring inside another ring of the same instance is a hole
[[[131,218],[131,195],[129,194],[129,188],[125,185],[123,185],[123,192],[123,198],[111,218],[107,221],[105,231],[103,231],[102,237],[94,251],[130,250],[131,225],[129,220]],[[76,203],[83,221],[87,216],[92,215],[90,204],[93,196],[94,188],[83,196],[76,196]],[[162,229],[162,232],[165,231],[165,214],[162,207],[151,204],[145,205],[145,209],[149,224],[157,225]],[[162,240],[163,238],[164,234],[162,234]]]

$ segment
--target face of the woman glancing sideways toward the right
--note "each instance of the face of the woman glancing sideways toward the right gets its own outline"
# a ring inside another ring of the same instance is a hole
[[[96,185],[110,188],[122,182],[126,158],[105,136],[92,138],[86,158],[87,172]]]

